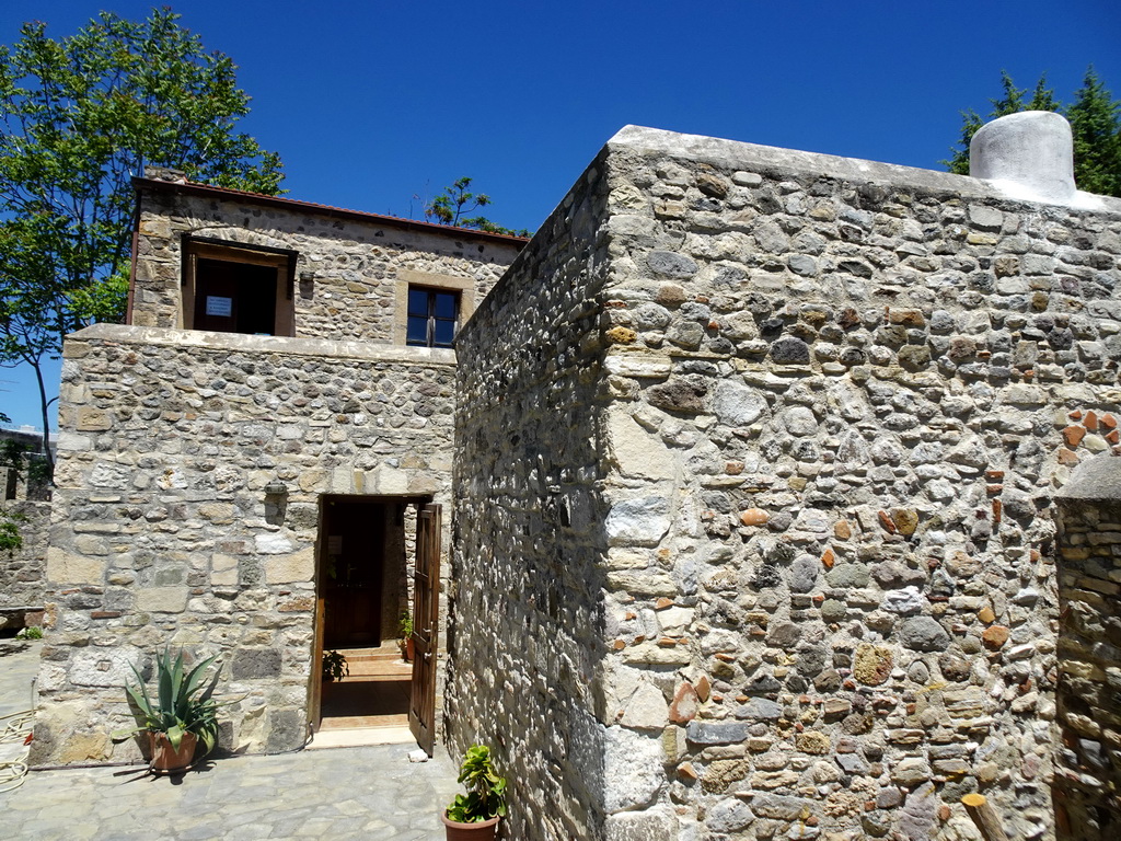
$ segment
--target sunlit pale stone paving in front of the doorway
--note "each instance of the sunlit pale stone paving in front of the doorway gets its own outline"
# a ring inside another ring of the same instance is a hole
[[[38,645],[0,657],[0,715],[26,709]],[[2,837],[50,841],[378,839],[443,841],[438,810],[456,792],[443,749],[411,745],[207,760],[175,777],[146,768],[31,771],[0,794]]]

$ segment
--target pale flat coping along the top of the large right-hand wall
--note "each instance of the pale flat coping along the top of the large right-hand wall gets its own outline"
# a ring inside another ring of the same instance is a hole
[[[740,166],[751,172],[788,172],[802,175],[819,175],[841,178],[858,184],[886,184],[895,190],[916,190],[953,193],[962,198],[984,198],[1018,201],[1022,204],[1040,204],[1023,201],[1015,193],[1002,190],[998,184],[967,175],[941,173],[934,169],[882,164],[861,158],[842,158],[776,146],[759,146],[739,140],[724,140],[702,135],[680,135],[676,131],[651,129],[643,126],[624,126],[608,144],[609,150],[634,149],[641,153],[657,153],[669,157],[721,166]],[[1077,193],[1069,202],[1056,202],[1060,206],[1121,214],[1121,198]]]

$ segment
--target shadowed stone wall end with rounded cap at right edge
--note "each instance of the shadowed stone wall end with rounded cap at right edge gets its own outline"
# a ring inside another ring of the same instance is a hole
[[[1059,511],[1058,838],[1121,831],[1121,460],[1095,460]]]

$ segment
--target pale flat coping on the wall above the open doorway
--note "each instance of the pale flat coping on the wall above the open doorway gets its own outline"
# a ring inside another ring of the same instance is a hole
[[[297,339],[293,336],[211,333],[203,330],[141,327],[133,324],[93,324],[66,336],[64,357],[74,342],[158,344],[166,348],[269,353],[315,359],[351,359],[364,362],[399,362],[420,366],[454,366],[455,351],[446,348],[413,348],[376,342]]]

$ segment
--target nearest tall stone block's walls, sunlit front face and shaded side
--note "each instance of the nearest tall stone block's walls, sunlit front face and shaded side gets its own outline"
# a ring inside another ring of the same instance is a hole
[[[602,632],[581,668],[597,722],[572,741],[600,748],[586,779],[606,768],[589,838],[972,837],[973,791],[1010,837],[1050,837],[1050,497],[1117,451],[1121,203],[633,128],[581,190],[606,207],[574,214],[572,242],[559,210],[471,325],[456,465],[456,563],[488,561],[464,581],[574,614],[492,619],[510,639],[455,649],[455,703],[475,693],[499,743],[527,684],[587,709],[555,655]],[[581,274],[593,253],[608,264]],[[564,323],[566,277],[599,336],[494,330]],[[555,346],[568,335],[578,352]],[[527,461],[566,367],[585,399]],[[602,538],[552,527],[550,477],[554,508],[591,482],[576,498]],[[564,777],[569,720],[507,751],[511,776]],[[569,808],[578,785],[556,795]]]

